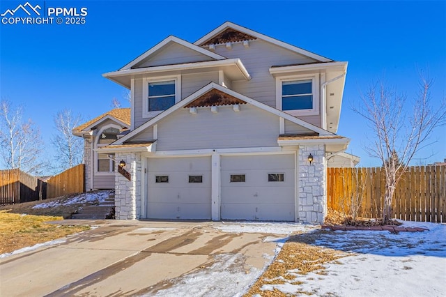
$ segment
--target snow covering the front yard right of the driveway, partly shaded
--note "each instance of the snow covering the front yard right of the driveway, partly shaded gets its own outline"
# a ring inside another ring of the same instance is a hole
[[[314,245],[348,252],[325,265],[325,275],[299,275],[263,290],[314,296],[446,296],[446,225],[403,222],[429,231],[314,231]],[[305,236],[305,235],[304,235]],[[296,284],[302,282],[302,284]]]

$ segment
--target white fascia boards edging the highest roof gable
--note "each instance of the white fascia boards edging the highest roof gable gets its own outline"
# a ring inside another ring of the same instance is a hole
[[[277,40],[275,38],[271,38],[270,36],[263,35],[262,33],[252,31],[251,29],[247,29],[244,26],[239,26],[238,24],[233,24],[231,22],[225,22],[221,26],[218,26],[213,31],[210,31],[205,36],[201,37],[199,40],[194,42],[194,45],[200,45],[201,43],[205,42],[206,40],[213,38],[218,33],[224,31],[227,28],[231,28],[240,32],[243,32],[245,34],[248,34],[250,36],[259,38],[261,40],[268,41],[268,43],[272,43],[275,45],[279,45],[280,47],[284,47],[287,50],[291,50],[292,52],[297,52],[298,54],[303,54],[304,56],[308,56],[309,58],[321,61],[321,62],[331,62],[332,59],[325,58],[325,56],[320,56],[318,54],[314,54],[313,52],[309,52],[307,50],[301,49],[300,47],[295,47],[294,45],[290,45],[289,43],[284,43],[283,41]]]

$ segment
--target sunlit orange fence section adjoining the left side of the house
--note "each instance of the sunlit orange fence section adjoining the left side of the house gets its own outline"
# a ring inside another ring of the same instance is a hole
[[[47,198],[85,192],[85,165],[79,164],[47,180]]]

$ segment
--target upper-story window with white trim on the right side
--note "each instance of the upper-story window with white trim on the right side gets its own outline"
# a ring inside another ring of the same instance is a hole
[[[276,78],[276,107],[293,116],[319,114],[318,75]]]

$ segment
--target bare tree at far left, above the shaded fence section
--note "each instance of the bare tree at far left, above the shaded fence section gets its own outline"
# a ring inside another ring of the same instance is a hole
[[[22,121],[22,108],[14,109],[8,100],[0,101],[0,148],[8,169],[39,175],[46,168],[39,128],[31,119]]]

